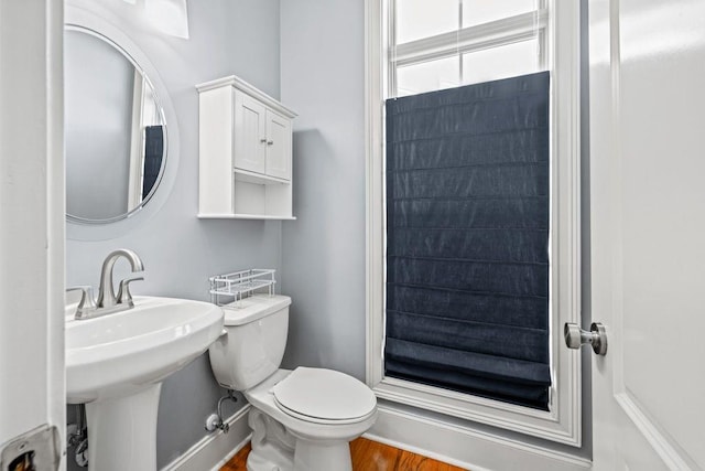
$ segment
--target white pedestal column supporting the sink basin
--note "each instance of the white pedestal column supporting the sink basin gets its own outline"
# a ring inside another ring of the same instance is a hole
[[[124,397],[86,404],[88,467],[156,471],[156,413],[162,383]]]

